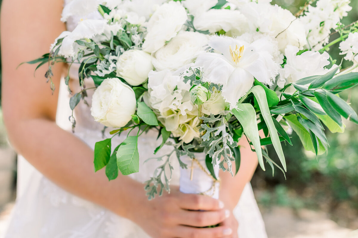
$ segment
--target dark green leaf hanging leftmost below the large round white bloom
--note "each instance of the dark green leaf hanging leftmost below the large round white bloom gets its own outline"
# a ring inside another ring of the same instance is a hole
[[[111,138],[104,141],[98,141],[95,144],[95,171],[97,172],[101,168],[108,164],[111,157]]]

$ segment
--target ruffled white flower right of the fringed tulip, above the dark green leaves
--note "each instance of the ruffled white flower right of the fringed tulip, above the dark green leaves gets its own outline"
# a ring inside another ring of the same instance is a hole
[[[279,70],[280,77],[277,81],[277,86],[283,88],[289,83],[294,83],[304,77],[314,75],[324,75],[329,70],[324,67],[329,65],[329,55],[327,52],[320,54],[315,51],[306,51],[301,55],[297,55],[299,48],[296,46],[287,46],[285,55],[287,58],[286,65]],[[333,65],[332,67],[336,67]],[[294,90],[291,87],[287,92]]]

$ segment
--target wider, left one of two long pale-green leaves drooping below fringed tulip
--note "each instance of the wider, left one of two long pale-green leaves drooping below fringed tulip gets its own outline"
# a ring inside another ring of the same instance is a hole
[[[260,136],[258,134],[256,112],[250,103],[239,103],[238,109],[233,109],[231,112],[240,122],[245,135],[249,138],[255,147],[258,162],[261,168],[265,171],[265,164],[263,164]]]

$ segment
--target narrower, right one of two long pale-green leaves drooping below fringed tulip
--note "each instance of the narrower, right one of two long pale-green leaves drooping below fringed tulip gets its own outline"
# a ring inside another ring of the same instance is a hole
[[[281,161],[281,164],[284,170],[286,171],[286,161],[285,161],[284,152],[282,151],[280,138],[279,135],[277,134],[275,124],[272,121],[269,106],[267,105],[265,90],[263,90],[261,86],[253,86],[249,91],[249,93],[250,92],[252,92],[256,97],[258,105],[260,106],[262,117],[266,122],[267,128],[269,129],[272,145],[274,146],[275,151]]]

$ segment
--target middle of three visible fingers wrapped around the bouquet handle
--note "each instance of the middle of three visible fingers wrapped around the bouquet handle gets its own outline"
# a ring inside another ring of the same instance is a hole
[[[218,211],[185,211],[178,213],[179,224],[192,227],[214,226],[223,222],[230,216],[229,210],[220,209]]]

